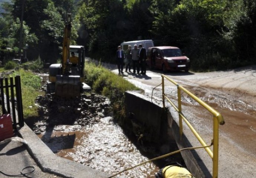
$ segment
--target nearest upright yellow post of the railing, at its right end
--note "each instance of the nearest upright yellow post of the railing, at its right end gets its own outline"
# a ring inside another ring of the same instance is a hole
[[[218,178],[219,165],[219,122],[213,117],[213,178]]]

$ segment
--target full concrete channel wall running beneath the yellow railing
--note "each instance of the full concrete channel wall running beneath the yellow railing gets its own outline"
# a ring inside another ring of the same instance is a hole
[[[147,141],[164,142],[166,139],[174,138],[179,149],[191,147],[186,135],[183,134],[180,137],[179,126],[171,112],[155,102],[152,103],[151,98],[134,91],[127,91],[125,92],[125,110],[127,118],[132,122],[134,132],[140,129],[147,137],[145,138]],[[187,168],[196,178],[212,177],[196,151],[182,151],[181,155]]]

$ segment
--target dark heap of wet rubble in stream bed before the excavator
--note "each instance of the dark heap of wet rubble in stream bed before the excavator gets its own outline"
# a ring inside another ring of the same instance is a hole
[[[52,125],[91,127],[111,113],[109,103],[108,98],[95,93],[81,94],[80,98],[73,99],[61,98],[48,93],[44,96],[37,96],[35,105],[43,109],[42,120],[39,122],[43,123],[45,128]],[[37,127],[34,131],[42,128],[39,123],[35,125]]]

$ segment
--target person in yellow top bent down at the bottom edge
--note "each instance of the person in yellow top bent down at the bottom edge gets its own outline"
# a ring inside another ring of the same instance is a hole
[[[180,164],[168,165],[155,174],[156,178],[195,178]]]

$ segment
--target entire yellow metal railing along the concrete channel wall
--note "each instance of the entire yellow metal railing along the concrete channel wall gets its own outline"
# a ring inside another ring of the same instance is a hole
[[[205,109],[207,109],[212,115],[213,115],[213,151],[207,147],[205,148],[206,152],[209,154],[211,159],[213,160],[213,178],[218,177],[218,161],[219,161],[219,125],[224,125],[225,121],[222,117],[222,115],[211,108],[211,106],[207,105],[205,102],[197,98],[197,96],[190,93],[188,90],[183,88],[183,86],[178,85],[174,80],[168,78],[165,75],[162,76],[162,90],[163,90],[163,107],[165,108],[165,99],[168,100],[168,102],[174,107],[174,109],[179,114],[179,125],[180,125],[180,135],[183,134],[183,127],[182,127],[182,120],[188,125],[190,130],[194,133],[198,141],[201,143],[202,146],[206,146],[206,142],[203,138],[197,133],[197,131],[193,128],[193,126],[190,124],[190,122],[187,120],[187,118],[183,115],[181,112],[181,90],[183,90],[185,93],[187,93],[188,96],[196,100],[201,106],[203,106]],[[178,107],[175,106],[175,104],[165,95],[164,93],[164,78],[169,80],[171,83],[177,86],[177,92],[178,92]]]

